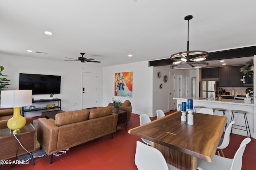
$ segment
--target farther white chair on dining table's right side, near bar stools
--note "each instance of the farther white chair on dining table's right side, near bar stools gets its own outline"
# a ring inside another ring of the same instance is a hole
[[[224,137],[220,139],[220,143],[217,147],[217,153],[219,156],[225,157],[222,149],[228,147],[229,141],[230,141],[230,132],[231,132],[231,128],[232,125],[235,123],[235,121],[232,121],[229,123],[228,128],[225,131]]]

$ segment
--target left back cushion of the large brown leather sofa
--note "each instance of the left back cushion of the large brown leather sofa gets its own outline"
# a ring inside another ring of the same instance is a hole
[[[63,126],[70,123],[85,121],[88,120],[88,117],[89,111],[87,109],[58,113],[55,115],[55,125]]]

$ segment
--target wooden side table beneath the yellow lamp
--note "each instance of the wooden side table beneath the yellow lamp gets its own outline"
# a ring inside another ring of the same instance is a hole
[[[25,125],[23,127],[23,130],[16,133],[15,135],[26,150],[31,152],[36,149],[36,129],[31,123],[30,125]],[[8,128],[0,129],[0,143],[0,160],[6,160],[8,158],[15,157],[17,153],[17,146],[18,156],[27,153],[26,150],[24,150],[20,146],[20,144]],[[32,164],[35,165],[32,154],[30,154],[30,158],[32,160]]]

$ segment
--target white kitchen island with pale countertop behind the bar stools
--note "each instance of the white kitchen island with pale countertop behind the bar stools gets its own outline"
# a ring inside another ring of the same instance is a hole
[[[226,109],[226,117],[228,118],[227,123],[230,123],[231,119],[231,110],[243,110],[247,111],[247,119],[248,124],[250,128],[250,132],[252,135],[252,138],[256,139],[256,120],[254,117],[256,117],[256,104],[250,104],[250,103],[244,103],[243,100],[213,100],[213,99],[206,99],[206,98],[188,98],[188,97],[180,97],[180,98],[174,98],[177,100],[176,102],[176,108],[178,108],[178,104],[181,104],[182,102],[188,102],[188,99],[193,99],[193,106],[204,106],[205,108],[212,109],[213,107],[223,108]],[[198,111],[198,110],[197,110]],[[215,111],[215,115],[223,116],[222,111]],[[244,122],[244,115],[235,113],[234,121],[236,122],[236,125],[245,126]],[[238,127],[239,128],[239,127]],[[241,127],[241,129],[246,129]],[[246,136],[247,132],[242,131],[239,129],[232,129],[232,133]]]

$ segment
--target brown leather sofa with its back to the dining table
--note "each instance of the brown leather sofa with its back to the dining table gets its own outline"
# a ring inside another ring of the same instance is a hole
[[[112,107],[58,113],[54,119],[38,119],[37,140],[47,155],[65,150],[116,131],[118,115]]]

